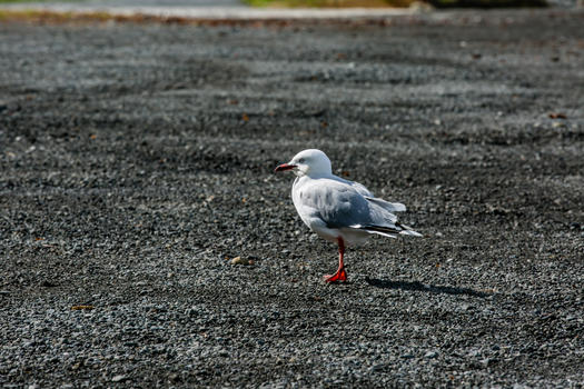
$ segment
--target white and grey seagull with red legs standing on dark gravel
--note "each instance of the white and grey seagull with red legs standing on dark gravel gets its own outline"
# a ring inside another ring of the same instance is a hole
[[[338,245],[338,269],[324,276],[326,282],[347,280],[343,257],[348,245],[362,243],[370,235],[422,237],[393,213],[404,212],[406,206],[376,198],[363,184],[333,174],[330,160],[320,150],[300,151],[275,171],[287,170],[296,174],[291,197],[300,219],[320,238]]]

